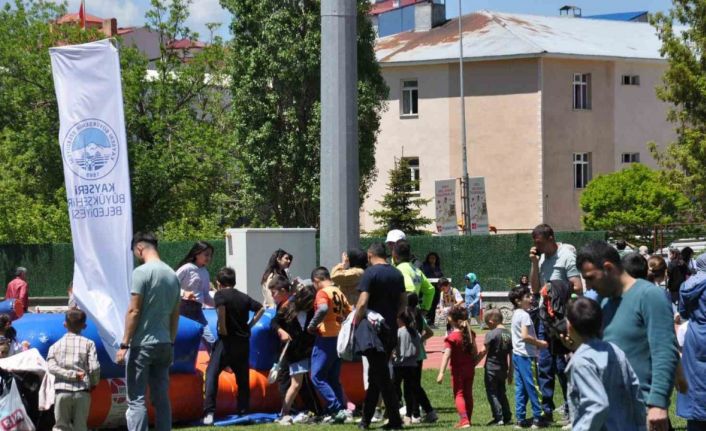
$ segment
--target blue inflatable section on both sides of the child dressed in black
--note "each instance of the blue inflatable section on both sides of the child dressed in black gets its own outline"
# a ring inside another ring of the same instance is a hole
[[[270,330],[270,323],[275,317],[275,309],[268,308],[262,315],[250,333],[250,368],[259,371],[268,371],[277,362],[277,351],[279,349],[279,338],[277,334]],[[218,334],[218,316],[213,308],[204,309],[204,315],[208,321],[211,333]],[[250,313],[252,319],[253,313]],[[181,327],[179,328],[181,330]]]

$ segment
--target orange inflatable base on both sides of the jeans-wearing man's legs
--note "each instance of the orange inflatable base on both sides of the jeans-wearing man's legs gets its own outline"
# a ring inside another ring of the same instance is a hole
[[[203,414],[203,375],[197,372],[169,376],[169,399],[174,422],[189,422],[200,418]],[[149,402],[147,409],[150,423],[154,423],[154,409]],[[91,392],[88,428],[124,426],[126,411],[125,379],[103,379]]]

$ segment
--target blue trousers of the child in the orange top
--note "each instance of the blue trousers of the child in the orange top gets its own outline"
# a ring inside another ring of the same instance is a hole
[[[337,337],[316,337],[311,352],[311,381],[326,401],[326,412],[333,414],[343,409],[343,389],[339,379],[341,359],[336,350]]]

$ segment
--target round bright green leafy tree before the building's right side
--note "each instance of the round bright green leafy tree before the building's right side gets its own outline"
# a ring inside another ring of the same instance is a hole
[[[588,183],[580,205],[585,229],[649,238],[654,225],[681,220],[689,200],[661,181],[659,172],[635,163]]]

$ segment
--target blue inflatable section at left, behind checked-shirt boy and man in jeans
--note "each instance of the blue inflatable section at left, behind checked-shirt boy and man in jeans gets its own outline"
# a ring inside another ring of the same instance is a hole
[[[101,378],[125,377],[125,367],[115,364],[110,359],[98,336],[96,325],[90,320],[86,322],[86,325],[86,329],[81,335],[96,343],[98,361],[101,364]],[[25,314],[12,322],[12,326],[17,330],[18,341],[28,341],[30,347],[39,350],[39,353],[45,358],[49,353],[49,347],[66,333],[63,314]],[[196,356],[202,333],[201,324],[185,317],[179,318],[179,331],[174,343],[174,364],[171,373],[193,374],[196,372]]]

